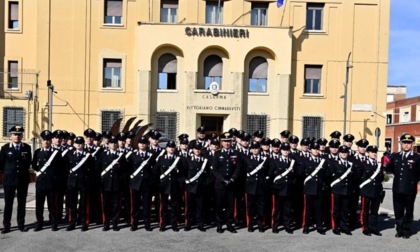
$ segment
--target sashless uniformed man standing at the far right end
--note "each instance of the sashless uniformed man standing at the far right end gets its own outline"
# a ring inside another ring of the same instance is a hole
[[[393,153],[387,169],[394,174],[392,201],[394,203],[397,233],[395,237],[410,238],[413,222],[417,183],[420,180],[420,155],[412,150],[414,137],[403,134],[400,137],[401,152]]]

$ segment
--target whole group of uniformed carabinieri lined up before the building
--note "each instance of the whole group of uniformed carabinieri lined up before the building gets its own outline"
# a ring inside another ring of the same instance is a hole
[[[89,224],[103,224],[103,231],[119,230],[120,218],[146,231],[152,231],[155,210],[159,231],[171,226],[179,231],[193,226],[202,232],[215,219],[217,232],[236,233],[238,227],[249,232],[270,228],[279,233],[302,228],[304,234],[316,230],[325,235],[351,235],[359,225],[363,234],[381,235],[378,210],[384,196],[384,166],[377,160],[378,147],[366,139],[331,133],[331,140],[299,140],[290,131],[280,139],[253,135],[235,128],[217,136],[206,136],[197,129],[197,138],[178,136],[179,145],[168,141],[159,146],[161,133],[155,130],[138,139],[135,132],[96,133],[84,137],[64,130],[41,133],[41,148],[33,158],[29,145],[21,142],[23,128],[10,129],[11,142],[1,149],[4,173],[5,211],[2,233],[10,232],[13,200],[17,192],[18,229],[25,228],[25,202],[29,167],[36,171],[36,225],[43,229],[47,200],[52,230],[58,230],[63,214],[71,231],[76,225],[88,230]],[[396,237],[410,237],[414,200],[419,181],[419,155],[413,153],[414,137],[400,138],[402,151],[394,153],[387,170],[394,173],[393,201]],[[300,149],[297,146],[300,144]],[[65,200],[64,200],[65,199]],[[360,215],[357,214],[360,204]],[[65,203],[65,204],[63,204]]]

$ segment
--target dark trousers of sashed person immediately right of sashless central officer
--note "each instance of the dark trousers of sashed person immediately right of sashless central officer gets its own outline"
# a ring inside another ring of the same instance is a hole
[[[257,222],[258,228],[263,227],[265,197],[263,194],[245,194],[247,210],[246,224],[248,227],[253,227],[255,221]]]

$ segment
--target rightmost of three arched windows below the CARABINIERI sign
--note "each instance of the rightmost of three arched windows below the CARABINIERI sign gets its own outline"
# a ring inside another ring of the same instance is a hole
[[[267,92],[267,60],[255,57],[249,63],[249,87],[248,92]]]

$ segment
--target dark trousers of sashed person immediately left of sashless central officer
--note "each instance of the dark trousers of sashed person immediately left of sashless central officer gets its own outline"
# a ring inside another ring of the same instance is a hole
[[[185,192],[185,226],[191,226],[195,221],[198,226],[203,225],[203,199],[202,193]]]

